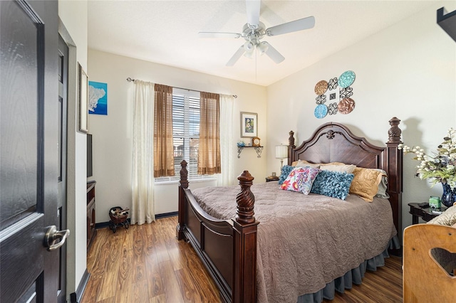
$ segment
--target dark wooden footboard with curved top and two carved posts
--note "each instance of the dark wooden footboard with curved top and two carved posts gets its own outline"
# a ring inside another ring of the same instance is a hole
[[[254,177],[244,171],[237,179],[237,216],[219,220],[205,213],[195,201],[187,181],[187,162],[181,162],[179,217],[176,235],[193,246],[214,279],[225,302],[256,302],[257,225]]]

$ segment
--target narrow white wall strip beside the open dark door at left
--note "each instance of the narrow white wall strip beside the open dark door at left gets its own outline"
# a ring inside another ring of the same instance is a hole
[[[67,299],[81,282],[86,255],[86,134],[77,129],[77,63],[87,67],[87,1],[58,1],[59,33],[69,46],[68,55],[68,159],[67,159]]]

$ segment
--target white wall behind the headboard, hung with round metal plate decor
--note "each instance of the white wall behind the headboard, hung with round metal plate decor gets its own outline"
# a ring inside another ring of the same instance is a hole
[[[403,141],[435,150],[449,127],[456,127],[456,43],[436,23],[436,10],[456,9],[455,2],[430,6],[309,68],[267,87],[268,144],[287,144],[288,132],[296,133],[296,145],[311,137],[326,122],[348,125],[354,134],[385,146],[388,120],[401,119]],[[362,25],[360,25],[362,26]],[[314,87],[319,80],[338,77],[346,70],[356,73],[348,115],[314,117]],[[441,195],[414,177],[417,161],[404,156],[403,227],[411,224],[410,202]],[[274,154],[267,156],[268,171],[276,169]]]

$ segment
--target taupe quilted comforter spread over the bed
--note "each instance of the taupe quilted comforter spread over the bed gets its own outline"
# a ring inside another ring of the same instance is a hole
[[[239,186],[192,191],[209,215],[236,216]],[[396,234],[390,203],[284,191],[277,182],[254,184],[257,302],[296,302],[379,255]]]

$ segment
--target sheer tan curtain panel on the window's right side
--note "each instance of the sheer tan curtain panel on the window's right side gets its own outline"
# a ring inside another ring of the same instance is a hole
[[[220,96],[201,92],[199,121],[198,174],[222,172],[220,162]]]

